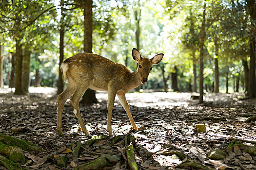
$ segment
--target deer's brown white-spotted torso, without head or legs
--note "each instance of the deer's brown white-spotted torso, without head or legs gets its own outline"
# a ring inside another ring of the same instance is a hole
[[[79,53],[63,63],[68,64],[68,76],[76,83],[90,83],[90,88],[108,91],[109,86],[116,89],[127,85],[131,71],[121,64],[92,53]]]

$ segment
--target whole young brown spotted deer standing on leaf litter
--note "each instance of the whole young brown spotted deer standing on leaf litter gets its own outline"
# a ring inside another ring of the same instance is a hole
[[[79,111],[79,100],[87,88],[108,92],[107,130],[110,136],[112,136],[112,108],[116,95],[118,95],[119,101],[123,105],[132,127],[136,131],[138,130],[131,115],[129,104],[126,101],[125,93],[147,82],[152,65],[158,64],[162,60],[163,53],[159,53],[153,58],[148,59],[141,57],[139,51],[133,49],[132,55],[133,59],[138,63],[138,68],[134,72],[121,64],[114,63],[107,58],[92,53],[79,53],[66,59],[62,63],[61,70],[63,79],[68,78],[68,85],[58,96],[57,131],[59,135],[63,134],[61,130],[61,119],[64,103],[73,95],[70,99],[70,104],[74,109],[74,114],[79,120],[82,131],[86,136],[89,136],[89,132],[85,127]]]

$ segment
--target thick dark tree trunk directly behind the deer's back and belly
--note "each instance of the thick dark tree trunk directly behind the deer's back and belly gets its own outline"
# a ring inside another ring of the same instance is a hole
[[[92,34],[93,34],[93,0],[87,0],[85,2],[84,10],[83,10],[83,26],[84,26],[84,42],[83,42],[83,50],[84,52],[92,52]],[[96,92],[95,90],[87,89],[83,95],[81,103],[96,103],[98,102],[96,99]]]

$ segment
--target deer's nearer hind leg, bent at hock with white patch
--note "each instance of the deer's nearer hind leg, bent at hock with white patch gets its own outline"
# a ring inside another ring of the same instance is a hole
[[[76,115],[76,117],[79,120],[82,131],[86,136],[90,136],[90,134],[89,134],[88,130],[86,129],[84,121],[81,117],[81,113],[79,110],[79,101],[80,101],[82,95],[84,94],[84,92],[88,89],[89,85],[90,85],[89,82],[86,82],[86,83],[83,82],[82,84],[78,84],[75,93],[73,94],[73,96],[71,97],[71,99],[69,101],[74,109],[74,114]]]

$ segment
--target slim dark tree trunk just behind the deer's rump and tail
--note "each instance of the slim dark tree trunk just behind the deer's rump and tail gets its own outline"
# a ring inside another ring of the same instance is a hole
[[[61,9],[62,9],[62,7],[61,7]],[[58,80],[58,92],[57,92],[57,94],[60,94],[64,89],[64,82],[63,82],[63,78],[62,78],[62,72],[61,72],[61,69],[60,69],[60,66],[61,66],[61,64],[63,62],[63,59],[64,59],[64,34],[65,34],[65,31],[64,31],[63,23],[61,23],[61,25],[60,25],[59,34],[60,34],[60,39],[59,39],[59,80]]]

